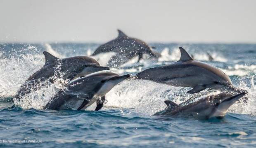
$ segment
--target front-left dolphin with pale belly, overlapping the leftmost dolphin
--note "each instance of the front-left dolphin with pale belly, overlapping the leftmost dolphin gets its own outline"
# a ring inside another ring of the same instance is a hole
[[[114,86],[130,77],[130,74],[119,76],[112,72],[90,74],[71,81],[60,90],[45,105],[44,109],[86,109],[97,102],[96,111],[100,110],[105,101],[105,95]]]

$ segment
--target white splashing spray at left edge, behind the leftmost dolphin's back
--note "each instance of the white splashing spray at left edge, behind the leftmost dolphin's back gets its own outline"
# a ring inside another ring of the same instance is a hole
[[[20,52],[37,51],[36,47],[29,46]],[[43,67],[44,55],[21,54],[18,57],[0,59],[0,97],[13,96],[28,76]]]

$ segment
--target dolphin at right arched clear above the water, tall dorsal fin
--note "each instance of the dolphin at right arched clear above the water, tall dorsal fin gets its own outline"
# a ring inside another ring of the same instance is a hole
[[[217,67],[193,60],[182,47],[180,47],[180,53],[180,60],[178,62],[146,69],[136,74],[134,79],[193,88],[187,93],[198,93],[206,88],[229,91],[238,90],[232,85],[229,76]]]

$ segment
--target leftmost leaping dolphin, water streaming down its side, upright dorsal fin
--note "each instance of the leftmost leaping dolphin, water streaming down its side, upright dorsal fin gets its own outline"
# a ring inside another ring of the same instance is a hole
[[[43,54],[45,55],[45,65],[21,85],[15,96],[18,100],[25,94],[40,89],[44,86],[41,83],[45,80],[50,79],[51,83],[55,83],[55,78],[72,80],[76,76],[85,76],[93,72],[109,69],[108,67],[100,66],[99,62],[87,56],[59,59],[47,51],[44,51]]]

